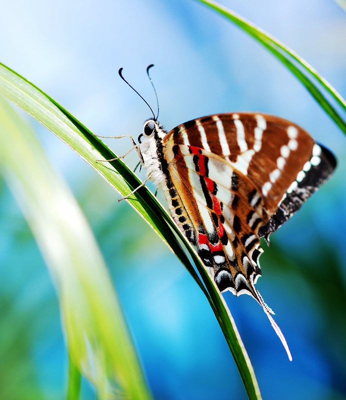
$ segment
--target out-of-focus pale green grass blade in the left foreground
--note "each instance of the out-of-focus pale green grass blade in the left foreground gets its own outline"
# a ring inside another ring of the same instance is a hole
[[[126,398],[149,399],[92,232],[33,132],[2,96],[0,167],[53,277],[72,364],[94,383],[100,399],[110,398],[114,390]],[[78,381],[74,373],[68,387],[71,399],[77,398]]]

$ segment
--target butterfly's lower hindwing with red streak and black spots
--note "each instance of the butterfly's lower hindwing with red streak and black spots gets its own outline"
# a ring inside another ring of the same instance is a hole
[[[170,176],[195,230],[200,257],[221,291],[239,294],[247,288],[254,295],[244,283],[260,274],[254,250],[261,251],[256,237],[261,216],[258,205],[248,201],[255,186],[214,153],[185,144],[174,150]],[[237,212],[245,208],[253,215],[251,223]]]

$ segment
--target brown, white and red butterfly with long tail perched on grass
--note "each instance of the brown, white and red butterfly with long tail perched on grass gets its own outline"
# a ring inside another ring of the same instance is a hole
[[[138,137],[147,179],[163,192],[218,289],[252,296],[291,359],[255,287],[260,238],[269,242],[331,175],[334,156],[295,123],[260,112],[203,116],[168,132],[153,116]]]

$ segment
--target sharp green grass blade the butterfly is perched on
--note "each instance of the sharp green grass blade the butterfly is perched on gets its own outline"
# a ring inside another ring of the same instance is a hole
[[[97,159],[109,159],[115,155],[58,103],[3,64],[0,64],[0,92],[61,138],[121,195],[127,195],[139,185],[140,181],[121,160],[110,163],[97,162]],[[261,398],[252,365],[235,322],[222,295],[193,248],[145,186],[133,193],[128,201],[176,254],[203,290],[232,352],[248,397],[251,400]],[[207,289],[200,281],[173,232],[182,240],[191,254]]]

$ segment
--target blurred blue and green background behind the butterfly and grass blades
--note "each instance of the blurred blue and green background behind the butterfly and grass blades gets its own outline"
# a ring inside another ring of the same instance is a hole
[[[345,94],[345,13],[331,0],[222,0],[293,48]],[[257,288],[276,312],[287,356],[249,296],[225,298],[263,398],[346,398],[346,148],[333,122],[270,54],[195,1],[12,1],[0,13],[1,62],[101,135],[132,133],[150,117],[148,64],[169,130],[214,112],[288,118],[339,160],[332,178],[264,247]],[[201,290],[173,254],[96,173],[30,120],[68,181],[111,271],[156,399],[242,399],[246,394]],[[118,154],[128,139],[108,140]],[[137,162],[130,154],[126,162]],[[143,177],[143,171],[140,173]],[[160,198],[160,197],[159,197]],[[67,355],[58,302],[25,220],[0,178],[0,398],[60,399]],[[95,394],[83,382],[83,399]]]

